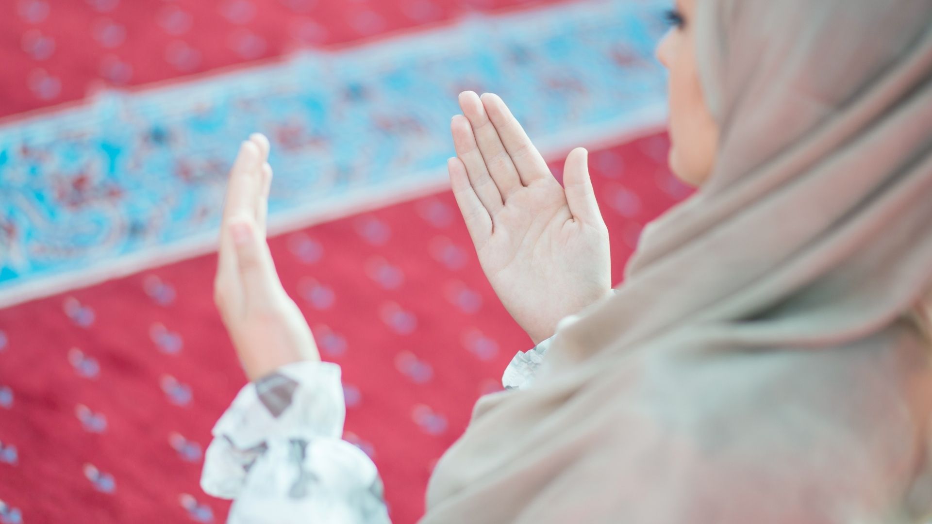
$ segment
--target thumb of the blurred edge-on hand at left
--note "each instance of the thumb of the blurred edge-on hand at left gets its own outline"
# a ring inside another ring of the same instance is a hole
[[[253,217],[238,216],[230,220],[243,295],[249,307],[265,306],[273,300],[281,281],[275,272],[268,244],[258,234]]]

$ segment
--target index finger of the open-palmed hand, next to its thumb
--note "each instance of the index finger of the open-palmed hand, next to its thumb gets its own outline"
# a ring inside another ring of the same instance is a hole
[[[501,97],[494,93],[485,93],[481,99],[488,119],[498,131],[501,144],[511,156],[521,182],[527,186],[546,176],[552,177],[553,174],[547,167],[547,162],[541,157],[541,152],[531,144],[528,133],[521,127]]]

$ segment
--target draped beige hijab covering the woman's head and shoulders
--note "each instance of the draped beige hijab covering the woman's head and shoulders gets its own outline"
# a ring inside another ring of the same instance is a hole
[[[932,0],[697,0],[715,172],[422,523],[874,523],[932,511]],[[927,460],[929,462],[927,462]]]

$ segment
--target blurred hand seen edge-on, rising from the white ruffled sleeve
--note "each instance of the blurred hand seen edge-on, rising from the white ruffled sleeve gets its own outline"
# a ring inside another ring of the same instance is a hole
[[[268,139],[240,145],[226,188],[213,302],[250,380],[281,365],[320,360],[301,310],[281,286],[266,242]]]

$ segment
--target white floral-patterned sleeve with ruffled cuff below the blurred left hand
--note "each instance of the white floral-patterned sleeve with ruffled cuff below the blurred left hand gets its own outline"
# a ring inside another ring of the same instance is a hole
[[[300,362],[244,386],[213,426],[200,478],[228,524],[391,522],[376,465],[342,440],[339,365]]]

